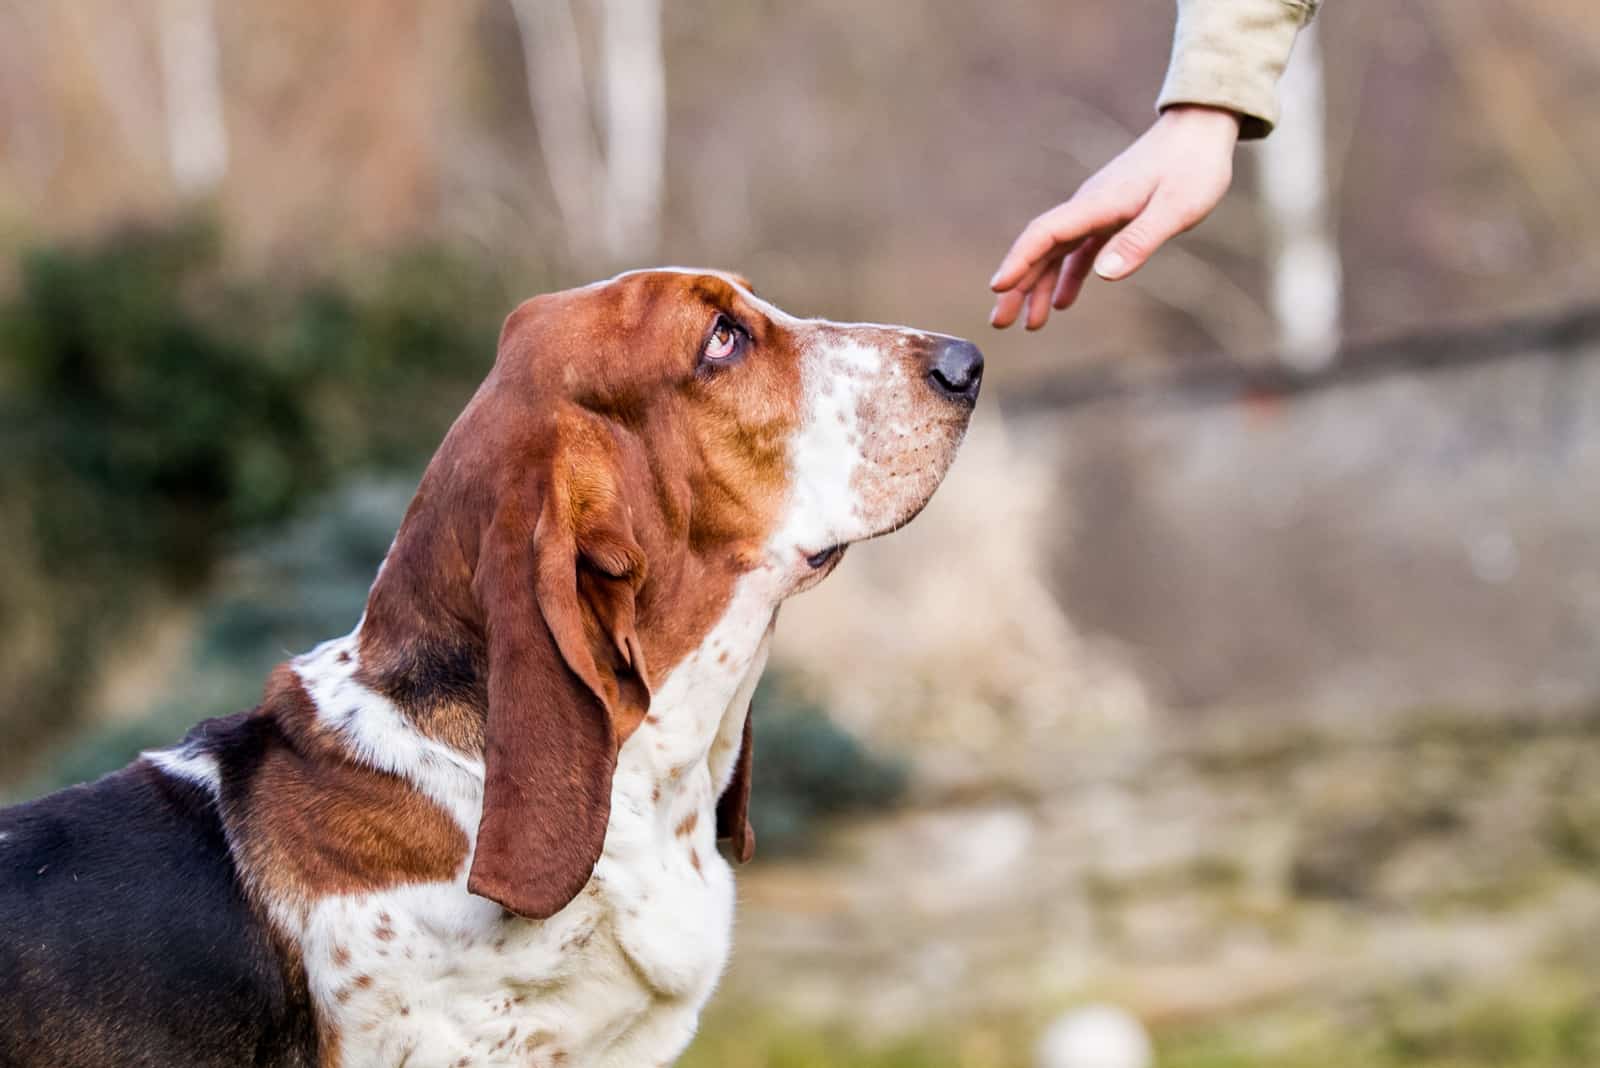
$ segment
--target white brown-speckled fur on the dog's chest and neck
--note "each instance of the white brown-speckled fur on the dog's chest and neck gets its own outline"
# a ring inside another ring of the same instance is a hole
[[[528,921],[467,894],[469,857],[451,883],[325,899],[286,921],[341,1068],[622,1068],[669,1063],[683,1050],[731,948],[733,873],[717,852],[715,803],[766,660],[774,598],[760,582],[747,576],[736,588],[624,743],[605,851],[558,915]],[[314,695],[330,686],[354,695],[354,659],[341,665],[333,656],[352,649],[330,643],[298,664]],[[366,724],[341,727],[357,748],[430,747],[374,737],[408,727],[363,692]],[[474,775],[427,753],[384,763],[445,801],[470,838],[480,767]]]

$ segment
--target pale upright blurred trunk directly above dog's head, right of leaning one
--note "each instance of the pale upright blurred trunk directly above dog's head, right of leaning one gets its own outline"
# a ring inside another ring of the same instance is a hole
[[[667,77],[661,0],[602,0],[606,208],[613,262],[648,261],[661,245]]]

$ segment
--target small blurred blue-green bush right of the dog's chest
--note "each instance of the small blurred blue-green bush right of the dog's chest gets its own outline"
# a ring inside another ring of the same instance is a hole
[[[797,697],[779,671],[755,689],[750,823],[758,857],[802,854],[832,817],[891,806],[906,791],[904,764],[882,758]]]

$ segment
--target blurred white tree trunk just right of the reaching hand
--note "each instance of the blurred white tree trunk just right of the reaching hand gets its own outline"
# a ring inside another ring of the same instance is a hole
[[[1256,150],[1272,233],[1272,312],[1283,360],[1326,366],[1339,349],[1342,267],[1328,206],[1325,82],[1317,26],[1301,32],[1278,86],[1283,117]]]

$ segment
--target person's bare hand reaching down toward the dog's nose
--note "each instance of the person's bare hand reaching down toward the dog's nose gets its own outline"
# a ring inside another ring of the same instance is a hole
[[[1090,267],[1110,281],[1142,267],[1222,200],[1237,142],[1234,112],[1190,104],[1162,112],[1122,155],[1018,235],[989,280],[998,294],[989,323],[1005,329],[1026,305],[1027,328],[1038,329],[1051,307],[1064,310],[1078,299]]]

